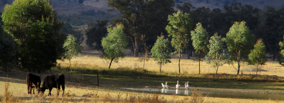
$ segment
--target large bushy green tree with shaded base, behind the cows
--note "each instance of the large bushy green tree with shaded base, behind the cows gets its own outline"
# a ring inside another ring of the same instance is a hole
[[[15,0],[2,14],[4,30],[17,42],[23,69],[40,72],[56,65],[64,49],[62,23],[46,0]]]

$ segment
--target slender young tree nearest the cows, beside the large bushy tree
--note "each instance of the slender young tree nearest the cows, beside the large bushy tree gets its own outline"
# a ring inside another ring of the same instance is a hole
[[[71,59],[73,57],[80,56],[81,51],[83,49],[83,46],[77,43],[76,41],[77,38],[69,34],[63,44],[63,48],[65,49],[64,57],[69,60],[69,68],[68,68],[69,80],[70,80],[69,71],[71,66]]]

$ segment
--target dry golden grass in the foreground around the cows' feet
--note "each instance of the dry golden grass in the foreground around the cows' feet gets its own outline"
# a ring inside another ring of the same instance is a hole
[[[66,82],[64,97],[56,96],[56,89],[53,89],[52,96],[47,97],[46,91],[43,97],[38,97],[39,94],[27,94],[27,87],[25,80],[11,79],[0,77],[0,96],[1,103],[4,101],[4,86],[9,82],[8,92],[10,99],[8,103],[148,103],[142,101],[144,99],[152,99],[154,94],[143,94],[134,92],[122,92],[119,89],[109,88],[102,86],[88,86],[83,84],[76,84]],[[89,97],[84,97],[87,95]],[[120,99],[117,98],[120,96]],[[131,97],[132,96],[132,97]],[[140,96],[140,98],[139,98]],[[149,96],[149,97],[148,97]],[[178,96],[178,95],[156,95],[157,101],[150,101],[150,103],[191,103],[191,96]],[[141,98],[143,97],[143,98]],[[135,100],[130,100],[135,98]],[[129,99],[129,100],[128,100]],[[233,99],[233,98],[217,98],[217,97],[203,97],[204,103],[283,103],[284,100],[261,100],[261,99]]]

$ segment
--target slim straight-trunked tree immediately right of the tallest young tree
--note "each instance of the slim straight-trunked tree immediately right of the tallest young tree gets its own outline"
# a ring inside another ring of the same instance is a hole
[[[192,40],[192,45],[195,49],[195,54],[198,56],[198,61],[199,61],[199,74],[200,74],[200,61],[201,57],[206,55],[208,52],[208,33],[206,29],[204,29],[201,25],[201,23],[196,24],[196,28],[194,31],[191,31],[191,40]]]

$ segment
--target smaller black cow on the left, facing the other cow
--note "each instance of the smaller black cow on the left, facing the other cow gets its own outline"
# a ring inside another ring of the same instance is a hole
[[[32,94],[33,88],[37,88],[38,93],[39,93],[39,87],[41,86],[41,78],[31,73],[29,73],[26,78],[27,78],[27,85],[28,85],[28,94]],[[35,94],[35,89],[33,89],[33,94]]]

